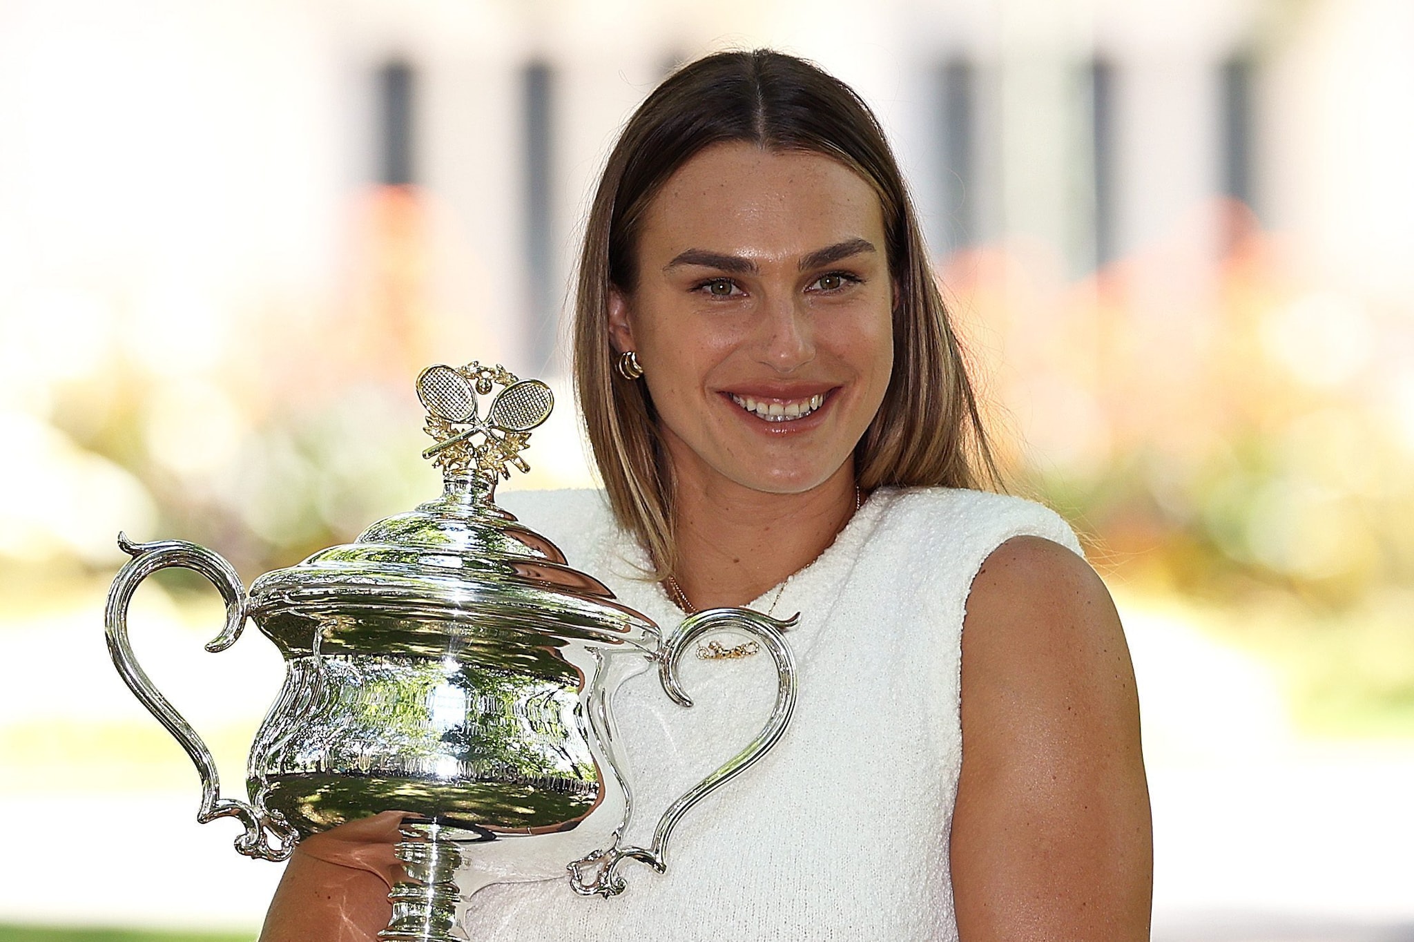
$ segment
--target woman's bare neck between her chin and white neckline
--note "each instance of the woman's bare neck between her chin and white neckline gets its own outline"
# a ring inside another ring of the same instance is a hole
[[[693,608],[745,605],[824,552],[854,516],[854,463],[800,494],[680,475],[674,491],[677,567]]]

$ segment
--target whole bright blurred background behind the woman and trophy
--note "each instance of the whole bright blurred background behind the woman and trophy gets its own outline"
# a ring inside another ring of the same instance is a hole
[[[1414,939],[1408,0],[0,0],[0,941],[253,938],[102,642],[115,536],[249,581],[437,491],[411,380],[560,392],[617,129],[773,45],[877,109],[1014,489],[1126,620],[1155,939]],[[280,662],[148,583],[148,670],[239,791]],[[225,935],[222,935],[225,934]]]

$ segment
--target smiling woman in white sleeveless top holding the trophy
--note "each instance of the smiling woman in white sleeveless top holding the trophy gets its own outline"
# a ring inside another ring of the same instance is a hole
[[[727,52],[649,96],[591,211],[575,380],[602,495],[502,502],[660,624],[799,611],[800,702],[666,876],[614,900],[489,887],[469,938],[1148,938],[1123,631],[1059,518],[973,489],[995,472],[963,359],[847,86]],[[652,678],[621,689],[639,808],[749,738],[764,666],[706,656],[689,711]],[[393,827],[301,844],[264,938],[370,938]]]

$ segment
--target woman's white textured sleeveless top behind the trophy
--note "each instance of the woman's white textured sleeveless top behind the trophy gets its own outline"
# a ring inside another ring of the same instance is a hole
[[[682,612],[643,581],[642,550],[600,491],[512,492],[499,504],[550,537],[665,635]],[[973,577],[997,546],[1042,536],[1079,552],[1046,508],[945,488],[877,491],[834,543],[752,608],[800,622],[788,639],[799,700],[756,765],[687,812],[667,873],[625,861],[628,890],[578,897],[567,880],[499,884],[464,905],[477,942],[908,942],[956,939],[949,833],[962,768],[962,628]],[[658,672],[614,702],[635,788],[626,840],[648,846],[663,809],[764,726],[769,656],[682,661],[691,709]],[[475,849],[469,849],[475,853]]]

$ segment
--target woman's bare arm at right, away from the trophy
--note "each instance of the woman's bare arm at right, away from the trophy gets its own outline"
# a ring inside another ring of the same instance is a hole
[[[1109,593],[1070,550],[998,547],[963,622],[952,874],[963,942],[1148,939],[1138,697]]]

